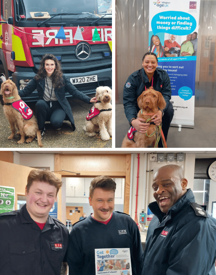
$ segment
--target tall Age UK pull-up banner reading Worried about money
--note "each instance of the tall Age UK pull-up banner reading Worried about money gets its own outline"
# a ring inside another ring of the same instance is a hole
[[[170,77],[171,126],[194,127],[199,14],[200,0],[149,0],[149,52]]]

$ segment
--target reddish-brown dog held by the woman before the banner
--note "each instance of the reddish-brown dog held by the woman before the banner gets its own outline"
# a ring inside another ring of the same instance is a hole
[[[153,114],[157,113],[158,108],[164,109],[166,102],[162,94],[154,89],[147,89],[137,99],[137,104],[140,108],[137,117],[142,119],[149,119]],[[147,129],[148,136],[156,131],[156,125],[150,124]],[[154,147],[156,144],[156,135],[152,137],[146,136],[145,133],[135,132],[134,141],[128,138],[128,135],[124,137],[121,147],[122,148],[148,148]]]

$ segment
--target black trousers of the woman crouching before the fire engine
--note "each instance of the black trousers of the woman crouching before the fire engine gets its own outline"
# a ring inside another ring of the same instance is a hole
[[[44,129],[46,121],[50,121],[54,129],[59,129],[62,127],[62,123],[66,118],[66,113],[59,101],[52,101],[52,107],[50,107],[50,101],[40,99],[36,103],[35,107],[38,128],[40,130]]]

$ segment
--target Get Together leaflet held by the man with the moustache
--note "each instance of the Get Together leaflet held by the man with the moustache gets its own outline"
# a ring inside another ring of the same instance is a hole
[[[130,248],[95,249],[95,273],[131,275]]]

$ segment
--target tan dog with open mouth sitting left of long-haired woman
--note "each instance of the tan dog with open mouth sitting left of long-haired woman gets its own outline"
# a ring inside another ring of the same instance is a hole
[[[10,123],[11,135],[8,139],[13,139],[16,134],[16,128],[18,129],[17,134],[21,136],[18,144],[24,142],[30,143],[36,137],[38,138],[38,145],[42,147],[41,143],[41,131],[38,129],[38,123],[35,116],[33,115],[30,119],[23,119],[23,116],[19,111],[12,107],[12,103],[19,101],[21,98],[18,94],[17,87],[10,79],[6,80],[1,85],[1,93],[4,100],[3,110],[6,118]],[[11,98],[12,97],[12,98]],[[25,137],[28,137],[25,141]]]

